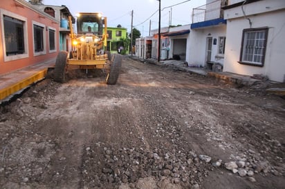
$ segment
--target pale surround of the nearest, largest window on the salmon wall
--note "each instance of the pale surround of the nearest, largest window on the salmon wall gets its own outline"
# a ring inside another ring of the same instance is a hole
[[[0,8],[0,14],[1,14],[1,32],[2,32],[2,40],[3,40],[3,57],[4,61],[14,61],[17,59],[24,59],[28,57],[28,27],[27,27],[27,18],[22,17],[19,14],[15,14],[14,12],[10,12],[8,10],[3,10]],[[4,32],[4,15],[8,17],[12,17],[18,20],[21,20],[24,22],[23,24],[23,31],[24,31],[24,53],[23,54],[15,54],[11,56],[6,55],[6,41],[5,41],[5,32]]]

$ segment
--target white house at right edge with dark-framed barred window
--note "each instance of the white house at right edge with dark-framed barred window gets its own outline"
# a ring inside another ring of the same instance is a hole
[[[231,0],[227,20],[224,72],[263,74],[285,82],[285,1]]]

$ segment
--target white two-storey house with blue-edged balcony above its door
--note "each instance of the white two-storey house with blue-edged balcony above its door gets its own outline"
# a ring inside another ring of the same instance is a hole
[[[207,0],[204,6],[194,8],[190,32],[190,66],[210,67],[214,63],[223,66],[226,42],[226,20],[222,7],[228,0]]]

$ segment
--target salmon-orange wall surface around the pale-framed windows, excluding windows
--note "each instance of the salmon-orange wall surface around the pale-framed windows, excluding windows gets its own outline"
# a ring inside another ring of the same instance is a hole
[[[53,60],[57,57],[59,52],[59,23],[57,21],[50,19],[48,17],[44,17],[43,14],[39,14],[35,12],[35,10],[31,10],[26,6],[22,6],[19,3],[16,3],[15,0],[1,0],[0,8],[3,10],[7,10],[9,12],[13,12],[15,14],[20,15],[21,17],[25,17],[27,19],[27,28],[28,28],[28,57],[23,59],[17,59],[12,61],[4,61],[4,52],[3,52],[3,37],[2,37],[2,28],[0,24],[0,74],[6,74],[8,72],[12,72],[13,70],[19,70],[21,68],[25,68],[27,66],[31,66],[36,63],[43,63],[46,61]],[[2,22],[1,19],[0,22]],[[49,52],[49,41],[48,41],[48,30],[46,30],[46,54],[34,55],[33,50],[33,21],[37,23],[41,23],[46,27],[50,27],[55,29],[55,52]]]

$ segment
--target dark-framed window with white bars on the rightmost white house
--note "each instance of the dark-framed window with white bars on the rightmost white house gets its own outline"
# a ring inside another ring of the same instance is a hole
[[[243,30],[239,63],[264,66],[268,28]]]

